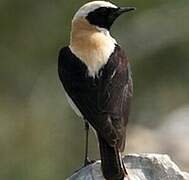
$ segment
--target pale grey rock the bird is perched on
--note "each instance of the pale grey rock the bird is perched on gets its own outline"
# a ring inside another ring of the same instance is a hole
[[[168,155],[131,154],[124,158],[128,171],[125,180],[189,180]],[[67,180],[104,180],[100,161],[77,171]]]

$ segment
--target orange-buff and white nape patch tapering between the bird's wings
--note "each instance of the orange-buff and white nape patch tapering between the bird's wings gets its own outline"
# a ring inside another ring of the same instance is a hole
[[[109,31],[90,25],[86,19],[72,24],[70,49],[86,64],[89,76],[95,77],[114,52],[116,40]]]

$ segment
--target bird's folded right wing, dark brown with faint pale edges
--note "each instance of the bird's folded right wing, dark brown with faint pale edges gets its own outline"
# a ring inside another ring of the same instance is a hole
[[[112,126],[116,132],[117,147],[120,151],[125,147],[131,96],[132,79],[129,64],[124,51],[117,46],[108,64],[103,68],[98,101],[103,113],[100,119],[107,119],[107,126]]]

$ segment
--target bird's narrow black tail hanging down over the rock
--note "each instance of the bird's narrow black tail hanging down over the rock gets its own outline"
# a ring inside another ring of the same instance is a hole
[[[121,167],[121,159],[116,147],[111,147],[99,135],[100,156],[102,161],[102,172],[106,180],[123,180],[125,173]]]

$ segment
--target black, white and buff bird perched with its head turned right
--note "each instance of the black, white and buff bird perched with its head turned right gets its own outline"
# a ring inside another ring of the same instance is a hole
[[[58,74],[69,104],[84,119],[85,165],[89,126],[99,142],[101,169],[107,180],[127,176],[121,154],[133,95],[130,64],[111,35],[114,21],[135,7],[91,1],[77,10],[71,22],[70,43],[60,49]]]

